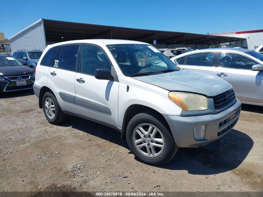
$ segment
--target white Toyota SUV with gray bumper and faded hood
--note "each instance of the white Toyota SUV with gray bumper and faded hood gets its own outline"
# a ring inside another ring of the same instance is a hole
[[[171,160],[178,147],[222,137],[241,108],[228,82],[179,69],[152,45],[129,40],[48,45],[34,92],[51,124],[69,114],[115,128],[137,158],[153,165]]]

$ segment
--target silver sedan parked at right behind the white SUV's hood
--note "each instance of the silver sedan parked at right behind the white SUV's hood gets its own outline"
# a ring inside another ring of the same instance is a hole
[[[180,68],[222,78],[232,85],[242,103],[263,106],[263,54],[249,49],[214,48],[171,60]]]

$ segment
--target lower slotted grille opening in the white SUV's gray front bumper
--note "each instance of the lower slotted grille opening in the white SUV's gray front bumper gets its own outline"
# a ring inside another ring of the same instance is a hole
[[[217,136],[227,133],[237,124],[240,111],[241,108],[236,113],[219,123]]]

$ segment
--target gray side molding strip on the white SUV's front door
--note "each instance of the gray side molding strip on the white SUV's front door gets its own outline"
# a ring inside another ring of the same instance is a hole
[[[110,108],[107,106],[101,105],[99,103],[95,103],[93,101],[89,101],[80,97],[75,97],[76,105],[86,107],[95,111],[100,111],[105,114],[111,114]]]

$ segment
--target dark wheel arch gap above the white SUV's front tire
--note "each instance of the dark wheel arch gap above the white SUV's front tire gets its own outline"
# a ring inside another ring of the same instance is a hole
[[[164,121],[164,123],[166,124],[165,126],[167,127],[167,129],[169,131],[171,131],[169,124],[167,123],[166,119],[164,118],[164,116],[158,112],[157,110],[154,110],[151,107],[148,106],[144,106],[144,105],[139,105],[139,104],[134,104],[129,106],[125,113],[124,113],[124,118],[123,118],[123,122],[122,122],[122,129],[121,129],[121,139],[125,139],[126,138],[126,128],[127,125],[129,123],[129,121],[137,114],[144,112],[144,111],[151,111],[154,114],[160,116],[160,118]]]

